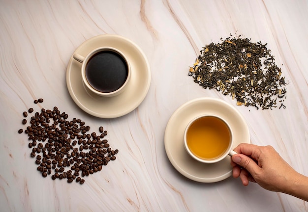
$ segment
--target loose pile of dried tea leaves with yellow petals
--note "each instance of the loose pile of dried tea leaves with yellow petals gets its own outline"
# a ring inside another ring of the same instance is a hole
[[[285,108],[286,82],[267,44],[241,36],[220,40],[205,46],[190,67],[188,75],[194,82],[230,95],[238,106]]]

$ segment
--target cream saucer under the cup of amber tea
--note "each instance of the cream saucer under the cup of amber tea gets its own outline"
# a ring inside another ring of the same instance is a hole
[[[192,159],[184,147],[186,125],[196,116],[216,114],[229,123],[235,148],[250,143],[247,124],[243,116],[231,105],[215,98],[198,98],[180,106],[170,117],[165,130],[165,150],[172,165],[185,177],[202,183],[214,183],[232,175],[230,157],[212,164]],[[232,148],[232,149],[233,149]]]

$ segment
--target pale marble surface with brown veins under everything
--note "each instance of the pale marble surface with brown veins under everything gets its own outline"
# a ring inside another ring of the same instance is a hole
[[[247,122],[251,142],[272,145],[308,175],[307,0],[0,0],[0,211],[240,211],[304,212],[295,197],[242,186],[232,177],[205,184],[182,176],[164,150],[164,131],[185,102],[214,97],[233,105]],[[289,81],[285,109],[236,106],[187,76],[201,48],[229,34],[268,43]],[[149,92],[135,110],[96,118],[72,101],[65,73],[84,41],[118,34],[148,58]],[[33,105],[43,98],[44,103]],[[22,112],[58,106],[93,131],[103,126],[117,159],[84,185],[42,178],[18,134]]]

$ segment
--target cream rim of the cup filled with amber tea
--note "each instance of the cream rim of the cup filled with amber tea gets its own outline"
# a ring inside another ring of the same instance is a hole
[[[227,128],[229,130],[229,133],[230,133],[230,142],[229,142],[229,146],[228,146],[227,150],[222,155],[220,155],[220,156],[218,156],[217,158],[214,158],[214,159],[202,159],[202,158],[199,158],[198,156],[196,156],[195,154],[193,154],[191,152],[191,150],[189,149],[189,147],[187,145],[187,131],[188,131],[188,129],[190,128],[190,126],[195,121],[197,121],[198,119],[203,118],[203,117],[215,117],[215,118],[218,118],[219,120],[221,120],[227,126]],[[230,128],[230,125],[223,118],[221,118],[220,116],[217,116],[215,114],[204,114],[204,115],[197,116],[197,117],[193,118],[187,124],[187,126],[185,128],[185,132],[184,132],[184,146],[185,146],[186,152],[189,154],[190,157],[192,157],[193,159],[195,159],[197,161],[203,162],[203,163],[216,163],[216,162],[221,161],[222,159],[225,159],[228,155],[236,154],[236,152],[234,152],[232,150],[232,146],[233,146],[233,132],[232,132],[232,130]]]

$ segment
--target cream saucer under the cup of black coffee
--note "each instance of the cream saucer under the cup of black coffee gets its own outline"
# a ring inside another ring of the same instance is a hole
[[[150,65],[136,44],[119,35],[105,34],[92,37],[82,43],[74,53],[86,56],[101,46],[119,49],[129,60],[131,78],[125,91],[115,97],[92,94],[83,86],[81,63],[73,57],[70,58],[66,69],[66,84],[69,94],[81,109],[96,117],[116,118],[134,110],[146,97],[151,83]]]

